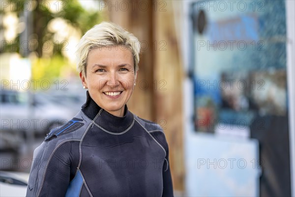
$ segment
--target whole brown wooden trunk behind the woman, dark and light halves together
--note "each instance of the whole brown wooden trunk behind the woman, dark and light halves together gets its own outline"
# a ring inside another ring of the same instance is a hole
[[[183,191],[183,68],[173,1],[108,0],[106,4],[110,21],[133,33],[142,43],[137,86],[128,107],[139,117],[163,128],[169,144],[174,189]]]

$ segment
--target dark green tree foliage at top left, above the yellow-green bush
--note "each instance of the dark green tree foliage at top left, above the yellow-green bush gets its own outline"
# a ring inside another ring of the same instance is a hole
[[[23,21],[24,10],[28,9],[28,0],[9,0],[8,9],[1,9],[1,17],[4,16],[5,10],[7,12],[16,12],[20,21]],[[47,0],[37,0],[33,1],[33,3],[29,3],[31,8],[34,9],[31,11],[31,19],[30,23],[32,23],[32,28],[29,30],[29,37],[33,35],[38,43],[43,43],[45,41],[53,40],[53,34],[48,32],[47,27],[50,21],[55,18],[63,18],[67,21],[68,24],[76,28],[82,34],[88,31],[95,24],[101,22],[100,12],[95,10],[85,10],[78,0],[61,0],[54,1],[56,4],[51,5],[54,11],[48,9],[49,1]],[[98,1],[95,1],[98,3]],[[34,5],[34,6],[32,6]],[[3,27],[1,27],[2,29]],[[20,52],[20,46],[16,46],[20,43],[20,36],[18,35],[15,40],[9,42],[5,46],[1,47],[0,52]],[[60,47],[54,47],[55,49]],[[36,49],[34,49],[39,57],[42,57],[42,46],[38,45]],[[60,51],[55,52],[54,54],[61,54]]]

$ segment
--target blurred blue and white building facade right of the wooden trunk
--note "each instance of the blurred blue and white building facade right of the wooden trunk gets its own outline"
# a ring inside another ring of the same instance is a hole
[[[188,196],[294,196],[294,2],[184,5]]]

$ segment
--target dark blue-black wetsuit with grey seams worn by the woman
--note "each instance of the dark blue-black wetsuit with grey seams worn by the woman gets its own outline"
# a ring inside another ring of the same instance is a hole
[[[125,105],[123,117],[88,94],[82,110],[34,151],[28,197],[171,197],[168,144],[161,127]]]

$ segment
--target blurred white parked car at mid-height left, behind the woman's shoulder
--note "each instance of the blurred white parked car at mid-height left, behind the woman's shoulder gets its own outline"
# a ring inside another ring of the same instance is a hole
[[[33,132],[45,136],[51,129],[65,124],[78,112],[51,98],[51,95],[44,93],[1,90],[0,129],[25,134]]]

